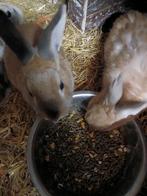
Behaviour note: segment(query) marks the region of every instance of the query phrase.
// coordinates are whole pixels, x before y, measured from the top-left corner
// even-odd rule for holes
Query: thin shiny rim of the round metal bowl
[[[95,96],[96,92],[94,92],[94,91],[76,91],[73,94],[73,98],[79,97],[80,95],[84,96],[86,94],[88,94],[89,97],[91,97],[91,96]],[[34,165],[34,161],[33,161],[33,157],[32,157],[32,146],[33,146],[32,141],[34,139],[34,135],[36,133],[37,127],[41,121],[42,121],[42,119],[39,117],[35,120],[32,128],[31,128],[30,134],[28,136],[27,149],[26,149],[27,167],[28,167],[28,172],[31,176],[31,180],[32,180],[34,186],[36,187],[36,189],[38,190],[39,194],[41,196],[52,196],[48,192],[47,188],[43,185],[43,183],[39,177],[39,174],[37,172],[37,169]],[[140,169],[140,172],[138,174],[136,181],[134,182],[131,189],[124,196],[135,196],[136,193],[139,192],[139,190],[143,184],[143,181],[145,179],[146,172],[147,172],[147,144],[146,144],[145,136],[144,136],[141,128],[139,127],[139,124],[135,120],[132,120],[131,122],[135,125],[136,129],[138,129],[138,135],[140,137],[142,149],[143,149],[143,161],[142,161],[142,167]]]

